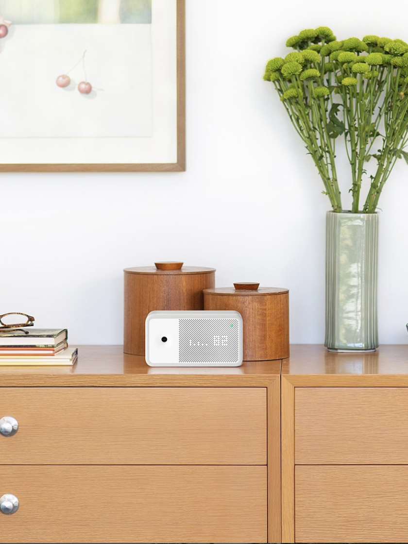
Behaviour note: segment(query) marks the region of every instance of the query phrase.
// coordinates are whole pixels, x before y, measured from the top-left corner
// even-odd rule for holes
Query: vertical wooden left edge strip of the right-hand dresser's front
[[[295,540],[294,387],[281,378],[282,542]]]

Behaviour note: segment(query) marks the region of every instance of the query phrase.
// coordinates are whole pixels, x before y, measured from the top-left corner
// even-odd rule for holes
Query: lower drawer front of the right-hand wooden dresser
[[[298,466],[296,542],[408,542],[408,467]]]

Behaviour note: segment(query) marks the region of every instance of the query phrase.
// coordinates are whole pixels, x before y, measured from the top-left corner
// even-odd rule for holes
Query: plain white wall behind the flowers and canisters
[[[323,342],[329,202],[264,64],[322,24],[408,39],[407,14],[405,0],[187,0],[187,172],[0,174],[0,313],[120,344],[122,269],[181,259],[217,268],[218,286],[288,287],[291,341]],[[400,162],[380,201],[381,343],[408,341],[407,203]]]

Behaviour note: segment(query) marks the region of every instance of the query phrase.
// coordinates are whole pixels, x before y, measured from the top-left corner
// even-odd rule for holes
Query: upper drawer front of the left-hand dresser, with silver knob
[[[265,388],[0,388],[2,464],[263,465]]]

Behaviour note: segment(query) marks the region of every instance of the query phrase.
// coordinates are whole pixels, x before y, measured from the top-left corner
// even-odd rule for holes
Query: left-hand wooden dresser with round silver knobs
[[[0,368],[0,541],[279,542],[280,367]]]

